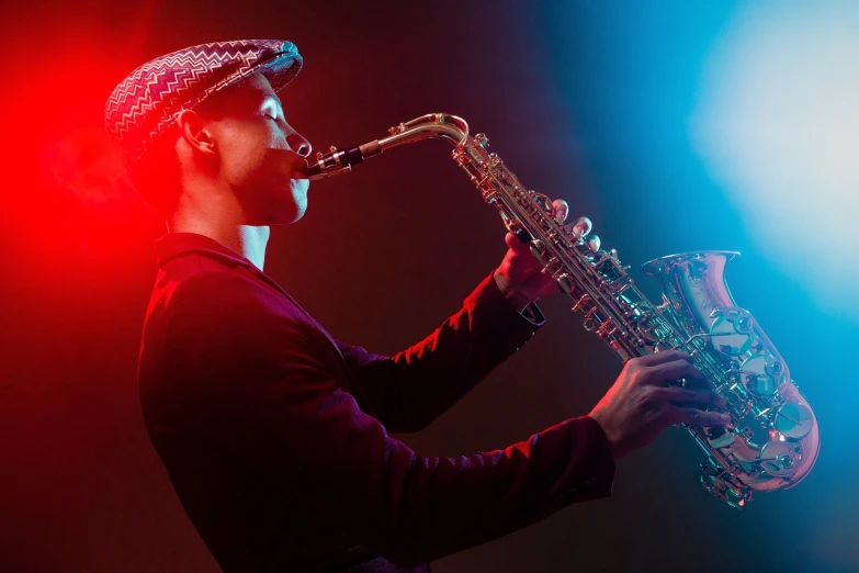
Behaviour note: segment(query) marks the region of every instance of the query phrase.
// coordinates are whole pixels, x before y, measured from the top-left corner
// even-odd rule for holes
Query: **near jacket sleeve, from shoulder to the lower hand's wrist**
[[[307,326],[273,312],[248,281],[191,279],[170,307],[168,355],[182,384],[170,402],[193,404],[181,431],[222,443],[350,543],[395,563],[438,559],[610,493],[613,458],[589,417],[505,449],[420,457],[340,389]]]

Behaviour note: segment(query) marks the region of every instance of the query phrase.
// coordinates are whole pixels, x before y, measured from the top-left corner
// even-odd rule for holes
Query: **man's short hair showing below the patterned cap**
[[[210,121],[224,117],[228,110],[227,97],[235,87],[213,93],[196,104],[194,112]],[[137,192],[165,217],[176,211],[182,194],[182,166],[176,153],[179,137],[179,125],[174,123],[128,170],[128,178]]]

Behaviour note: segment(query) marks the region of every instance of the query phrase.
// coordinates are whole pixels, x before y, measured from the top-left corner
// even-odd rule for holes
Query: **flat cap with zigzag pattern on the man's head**
[[[144,64],[122,80],[104,105],[104,124],[131,167],[176,124],[181,111],[256,72],[278,91],[298,74],[302,63],[295,44],[282,40],[215,42],[180,49]]]

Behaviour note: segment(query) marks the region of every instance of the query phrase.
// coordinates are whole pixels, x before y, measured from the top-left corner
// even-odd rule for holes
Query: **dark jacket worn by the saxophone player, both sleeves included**
[[[382,357],[331,338],[249,260],[193,234],[157,244],[139,391],[173,487],[226,572],[428,571],[430,560],[610,493],[599,425],[423,458],[426,427],[530,338],[484,280],[431,336]]]

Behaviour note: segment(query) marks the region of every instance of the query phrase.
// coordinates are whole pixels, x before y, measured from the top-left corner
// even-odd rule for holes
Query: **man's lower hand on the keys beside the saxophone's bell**
[[[589,414],[602,426],[614,459],[647,446],[671,424],[724,426],[731,422],[726,414],[699,409],[725,405],[714,392],[666,384],[679,379],[703,380],[687,352],[665,350],[626,362]]]

